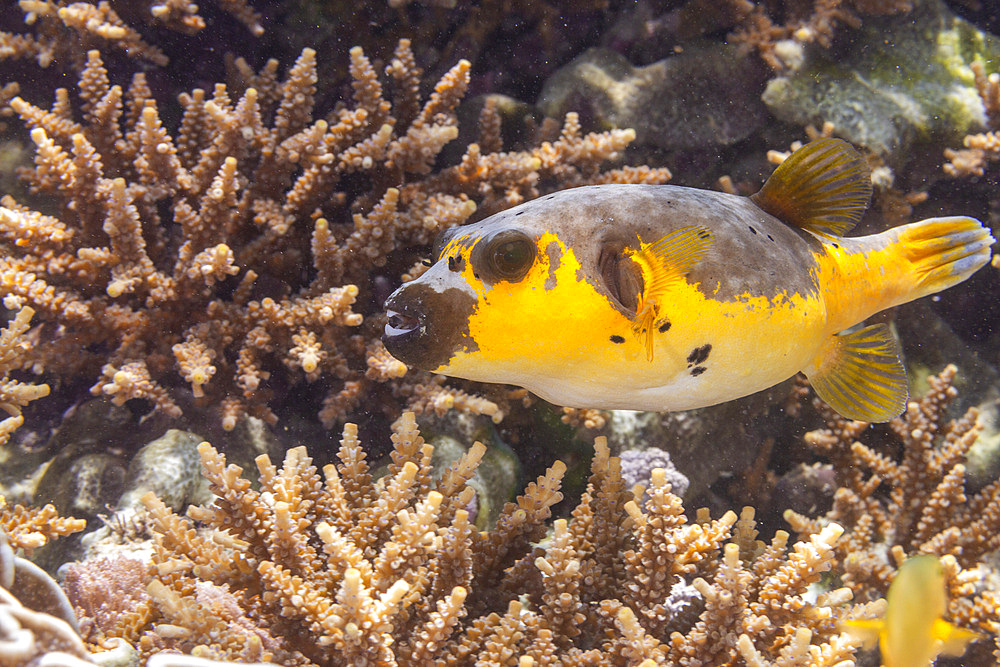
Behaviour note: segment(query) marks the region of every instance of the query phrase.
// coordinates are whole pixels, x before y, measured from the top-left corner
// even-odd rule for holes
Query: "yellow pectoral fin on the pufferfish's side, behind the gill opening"
[[[635,262],[642,275],[637,295],[632,331],[646,346],[646,358],[653,360],[653,331],[660,319],[660,304],[670,288],[705,257],[712,234],[700,225],[682,227],[653,243],[626,248],[625,257]]]

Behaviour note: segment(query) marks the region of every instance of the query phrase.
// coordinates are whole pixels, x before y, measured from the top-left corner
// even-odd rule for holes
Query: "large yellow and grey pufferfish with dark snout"
[[[864,159],[814,141],[751,197],[673,185],[563,190],[448,230],[386,301],[404,363],[579,408],[687,410],[805,372],[845,417],[906,406],[895,339],[870,315],[962,282],[993,237],[968,217],[844,238]]]

